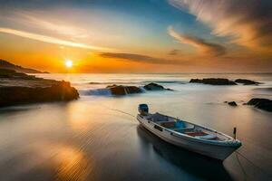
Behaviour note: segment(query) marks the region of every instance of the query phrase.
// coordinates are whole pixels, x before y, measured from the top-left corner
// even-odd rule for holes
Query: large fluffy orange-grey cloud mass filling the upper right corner
[[[268,0],[169,0],[188,10],[212,33],[249,48],[272,49],[272,2]]]

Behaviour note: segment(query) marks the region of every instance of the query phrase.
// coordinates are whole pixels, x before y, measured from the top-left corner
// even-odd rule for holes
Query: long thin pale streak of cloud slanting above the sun
[[[90,50],[95,50],[95,51],[111,51],[111,49],[104,48],[104,47],[93,46],[93,45],[89,45],[89,44],[85,44],[85,43],[74,43],[71,41],[66,41],[66,40],[55,38],[55,37],[46,36],[43,34],[28,33],[28,32],[5,28],[5,27],[0,27],[0,33],[13,34],[16,36],[20,36],[20,37],[24,37],[24,38],[28,38],[28,39],[35,40],[35,41],[44,42],[44,43],[53,43],[53,44],[59,44],[59,45],[63,45],[63,46],[90,49]]]

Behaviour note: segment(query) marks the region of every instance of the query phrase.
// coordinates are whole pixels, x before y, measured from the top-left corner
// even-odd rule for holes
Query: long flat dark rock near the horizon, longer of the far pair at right
[[[234,81],[229,81],[228,79],[221,78],[208,78],[208,79],[191,79],[189,83],[203,83],[209,85],[237,85]]]

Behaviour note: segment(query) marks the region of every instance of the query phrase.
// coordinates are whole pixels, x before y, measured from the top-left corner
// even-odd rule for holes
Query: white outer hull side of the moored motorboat
[[[140,116],[137,117],[141,125],[150,130],[151,133],[156,135],[157,137],[163,139],[164,141],[178,146],[180,148],[188,149],[189,151],[193,151],[195,153],[199,153],[201,155],[212,157],[218,160],[224,160],[229,155],[231,155],[237,148],[240,146],[222,146],[216,144],[207,144],[203,143],[194,138],[186,138],[180,137],[180,135],[173,134],[167,129],[156,129],[155,124],[152,121],[148,121],[147,119],[142,119]]]

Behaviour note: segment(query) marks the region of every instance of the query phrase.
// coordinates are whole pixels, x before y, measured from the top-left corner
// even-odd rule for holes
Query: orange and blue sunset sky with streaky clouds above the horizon
[[[270,0],[0,0],[0,6],[0,59],[40,71],[272,71]]]

